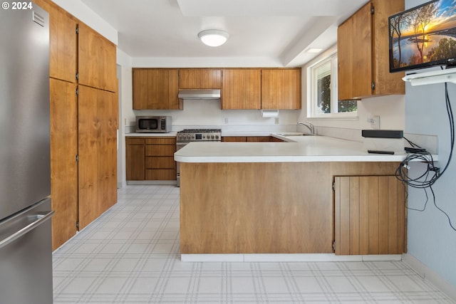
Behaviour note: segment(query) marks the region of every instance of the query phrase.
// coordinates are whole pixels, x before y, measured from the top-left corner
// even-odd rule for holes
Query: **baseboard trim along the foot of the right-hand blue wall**
[[[456,287],[445,281],[442,276],[435,273],[435,271],[432,271],[432,269],[427,267],[420,260],[418,260],[418,258],[415,258],[415,256],[412,256],[410,253],[404,253],[402,255],[402,261],[418,273],[418,276],[430,281],[430,283],[439,288],[442,293],[445,293],[456,302]]]

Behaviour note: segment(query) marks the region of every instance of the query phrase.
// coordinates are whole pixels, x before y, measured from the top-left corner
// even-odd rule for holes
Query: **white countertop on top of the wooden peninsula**
[[[362,142],[334,137],[270,135],[286,142],[191,142],[175,152],[175,160],[177,162],[401,162],[406,155],[405,152],[370,154],[363,150]],[[224,134],[224,136],[227,135]]]

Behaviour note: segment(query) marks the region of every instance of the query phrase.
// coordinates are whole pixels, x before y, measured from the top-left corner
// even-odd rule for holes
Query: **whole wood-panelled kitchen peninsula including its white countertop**
[[[180,162],[180,251],[400,254],[406,249],[404,154],[361,142],[195,142]]]

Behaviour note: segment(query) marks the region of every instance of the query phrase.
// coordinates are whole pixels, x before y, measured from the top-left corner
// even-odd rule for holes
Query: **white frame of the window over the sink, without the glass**
[[[317,112],[317,81],[316,70],[324,64],[331,62],[331,113]],[[307,117],[308,118],[333,118],[333,119],[357,119],[358,110],[356,112],[337,112],[338,97],[337,97],[337,51],[323,54],[309,64],[307,70]],[[357,107],[358,108],[358,107]]]

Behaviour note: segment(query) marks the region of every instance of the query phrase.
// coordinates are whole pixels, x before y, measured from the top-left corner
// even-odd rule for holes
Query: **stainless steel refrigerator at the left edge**
[[[48,14],[0,9],[0,303],[52,303]],[[25,4],[25,2],[24,2]]]

